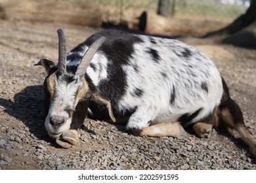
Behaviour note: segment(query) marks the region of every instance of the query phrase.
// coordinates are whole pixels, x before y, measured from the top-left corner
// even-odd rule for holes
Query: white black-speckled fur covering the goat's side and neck
[[[136,112],[129,119],[127,128],[142,129],[149,125],[148,121],[150,120],[153,124],[176,122],[182,114],[192,114],[202,108],[200,114],[190,122],[194,123],[210,114],[213,108],[219,105],[223,93],[221,76],[217,67],[207,56],[183,42],[154,38],[156,42],[161,41],[162,45],[154,47],[160,56],[159,63],[156,63],[150,54],[145,54],[147,48],[152,48],[150,37],[140,36],[140,38],[143,39],[143,44],[135,44],[135,53],[129,59],[130,64],[123,66],[128,86],[125,96],[118,103],[119,110],[137,107]],[[184,48],[196,54],[200,59],[190,57],[187,60],[173,52],[173,50],[182,52]],[[107,62],[106,59],[96,56],[92,63],[96,65],[100,61]],[[133,67],[135,64],[139,73]],[[102,71],[106,71],[106,64],[102,67]],[[100,80],[107,77],[107,75],[100,77],[102,73],[93,72],[90,68],[87,73],[96,86]],[[165,73],[167,77],[164,78],[161,73]],[[192,77],[189,73],[193,73],[196,77]],[[200,86],[205,81],[208,85],[208,92],[202,90]],[[170,91],[174,86],[175,101],[173,105],[170,105]],[[188,86],[189,88],[187,88]],[[141,97],[132,95],[135,88],[143,90],[144,93]]]

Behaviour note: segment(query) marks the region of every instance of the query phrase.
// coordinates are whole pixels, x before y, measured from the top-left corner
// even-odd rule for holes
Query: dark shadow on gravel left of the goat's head
[[[43,86],[28,86],[14,95],[14,101],[0,99],[5,112],[23,122],[37,139],[51,142],[44,126]]]

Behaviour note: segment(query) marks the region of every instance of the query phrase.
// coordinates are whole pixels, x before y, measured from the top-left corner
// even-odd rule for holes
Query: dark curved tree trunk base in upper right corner
[[[232,24],[220,29],[219,31],[213,31],[207,33],[204,37],[211,37],[215,35],[233,34],[236,33],[244,27],[251,25],[256,21],[256,0],[251,0],[251,5],[242,16],[238,17]]]

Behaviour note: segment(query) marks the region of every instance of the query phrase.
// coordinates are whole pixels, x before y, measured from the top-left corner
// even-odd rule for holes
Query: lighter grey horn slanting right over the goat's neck
[[[98,48],[100,48],[101,44],[106,41],[106,37],[100,37],[100,39],[96,40],[91,44],[91,46],[88,48],[88,50],[85,52],[85,56],[83,56],[83,59],[79,66],[77,67],[77,71],[75,72],[75,75],[82,76],[85,75],[87,67],[89,67],[91,60],[93,59],[93,56],[97,52]]]

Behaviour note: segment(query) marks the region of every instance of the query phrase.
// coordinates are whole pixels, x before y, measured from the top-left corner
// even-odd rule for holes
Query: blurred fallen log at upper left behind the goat
[[[12,4],[10,4],[12,2]],[[100,27],[102,14],[99,7],[66,1],[9,1],[4,6],[7,20],[63,22]]]

